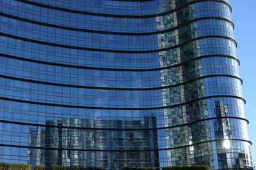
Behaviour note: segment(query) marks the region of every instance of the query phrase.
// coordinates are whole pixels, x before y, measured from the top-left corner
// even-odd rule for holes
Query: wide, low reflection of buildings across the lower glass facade
[[[44,127],[29,128],[29,146],[52,148],[29,149],[29,164],[45,164],[48,167],[54,164],[81,167],[100,165],[107,168],[109,162],[114,161],[115,164],[111,168],[119,168],[124,166],[118,164],[120,159],[129,159],[129,165],[132,166],[140,166],[138,161],[142,159],[144,166],[159,166],[152,161],[158,162],[159,157],[154,157],[151,152],[137,153],[141,148],[157,149],[157,131],[149,130],[156,128],[156,117],[145,117],[143,124],[138,120],[105,123],[106,126],[98,126],[95,120],[63,118],[61,121],[55,118],[47,121]],[[113,130],[109,131],[109,128]],[[102,152],[95,152],[94,148]],[[127,152],[108,154],[106,150]]]

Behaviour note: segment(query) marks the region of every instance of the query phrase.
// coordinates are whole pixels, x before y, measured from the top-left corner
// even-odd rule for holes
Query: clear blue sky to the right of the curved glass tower
[[[241,61],[241,77],[246,99],[246,116],[250,121],[249,136],[252,145],[253,164],[256,165],[256,1],[230,0],[232,20],[235,24],[237,52]]]

